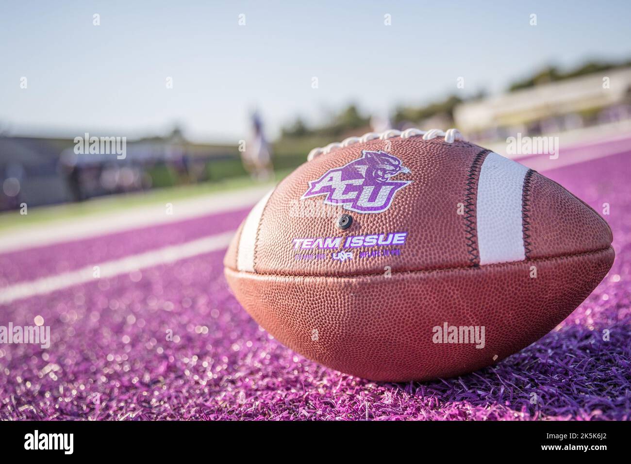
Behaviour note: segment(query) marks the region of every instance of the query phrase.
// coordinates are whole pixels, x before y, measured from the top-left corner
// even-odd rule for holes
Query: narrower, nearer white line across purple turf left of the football
[[[100,278],[110,278],[124,273],[151,268],[157,265],[174,263],[180,259],[191,258],[198,254],[209,253],[225,248],[230,243],[235,234],[234,230],[223,234],[209,235],[201,239],[179,245],[167,246],[146,253],[134,254],[121,259],[105,261],[105,263],[94,263],[76,271],[64,272],[62,274],[42,277],[30,282],[21,282],[0,289],[0,304],[9,304],[15,300],[42,295],[55,290],[66,289],[73,285],[85,282],[93,282],[97,278],[93,277],[93,267],[100,267]]]

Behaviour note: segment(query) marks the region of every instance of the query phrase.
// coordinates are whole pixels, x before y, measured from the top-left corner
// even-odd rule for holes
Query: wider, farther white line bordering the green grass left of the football
[[[178,198],[167,214],[166,203],[134,206],[103,215],[68,218],[63,222],[34,224],[0,234],[0,253],[97,237],[124,230],[178,222],[203,215],[238,210],[254,205],[269,191],[269,185],[193,198]],[[36,210],[29,212],[36,214]]]

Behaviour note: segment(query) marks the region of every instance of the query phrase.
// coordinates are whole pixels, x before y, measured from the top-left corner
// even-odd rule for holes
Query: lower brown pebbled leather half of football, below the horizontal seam
[[[613,255],[608,248],[391,278],[225,274],[239,302],[287,347],[362,378],[409,381],[471,372],[535,342],[591,293]],[[432,328],[445,322],[485,326],[485,347],[433,343]]]

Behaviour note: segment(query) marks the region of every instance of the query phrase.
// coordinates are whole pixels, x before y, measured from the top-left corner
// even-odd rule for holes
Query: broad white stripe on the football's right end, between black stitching
[[[478,181],[478,250],[480,265],[526,258],[522,232],[522,193],[528,168],[489,153]]]

